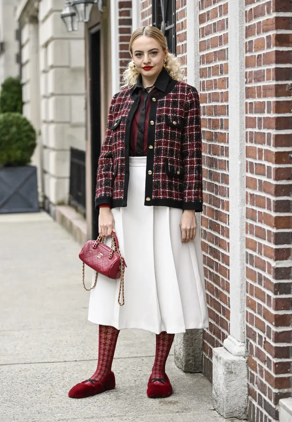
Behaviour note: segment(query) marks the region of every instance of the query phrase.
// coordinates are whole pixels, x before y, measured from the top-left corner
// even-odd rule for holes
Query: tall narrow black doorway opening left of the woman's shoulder
[[[90,110],[91,110],[91,173],[92,173],[92,238],[98,237],[98,216],[95,210],[95,188],[100,156],[100,30],[89,32]]]

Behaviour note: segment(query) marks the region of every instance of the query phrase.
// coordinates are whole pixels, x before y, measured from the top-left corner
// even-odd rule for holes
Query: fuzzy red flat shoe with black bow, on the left
[[[88,381],[90,384],[86,384]],[[71,390],[68,392],[68,396],[73,398],[84,398],[103,393],[107,390],[113,390],[115,387],[115,376],[114,373],[111,372],[100,381],[89,378],[85,381],[79,382],[71,388]]]

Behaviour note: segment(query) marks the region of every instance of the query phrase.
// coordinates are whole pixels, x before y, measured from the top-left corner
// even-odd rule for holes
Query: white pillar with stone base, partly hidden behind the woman
[[[200,91],[199,3],[187,0],[187,83]],[[201,235],[197,214],[197,235]],[[202,372],[203,330],[187,330],[174,338],[174,361],[184,372]]]

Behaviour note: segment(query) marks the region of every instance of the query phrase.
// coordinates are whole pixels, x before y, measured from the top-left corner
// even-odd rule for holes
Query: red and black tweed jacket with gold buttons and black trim
[[[202,138],[199,95],[162,69],[151,97],[145,206],[203,210]],[[139,104],[136,86],[114,95],[97,168],[95,206],[127,206],[129,143]]]

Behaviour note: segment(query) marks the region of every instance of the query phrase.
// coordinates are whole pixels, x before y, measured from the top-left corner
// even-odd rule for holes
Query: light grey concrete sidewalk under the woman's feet
[[[115,390],[68,398],[97,361],[79,251],[47,214],[0,216],[0,421],[224,421],[212,409],[211,384],[176,368],[173,354],[173,395],[147,398],[155,335],[142,330],[120,333]]]

